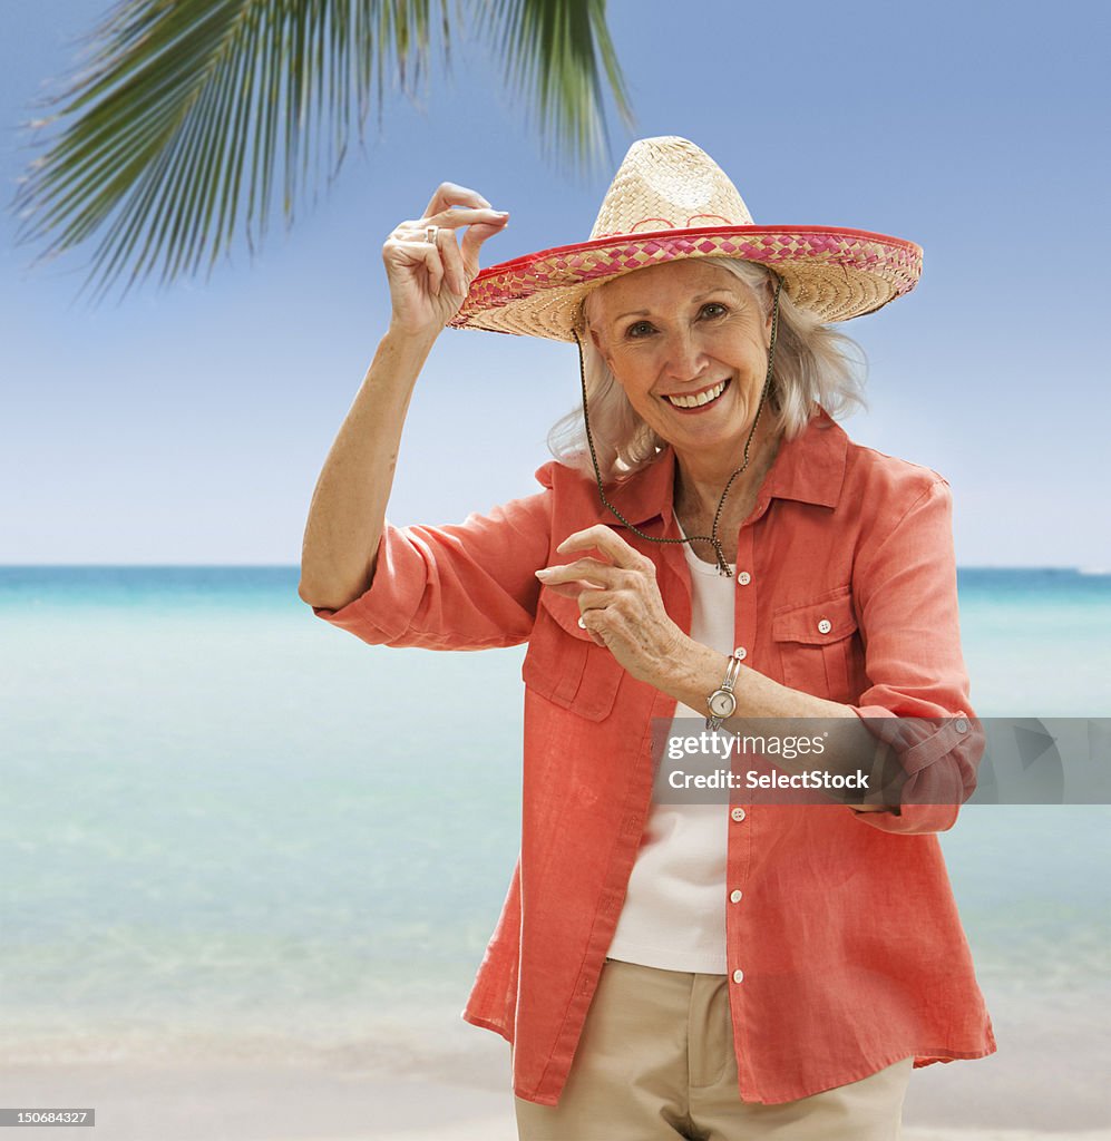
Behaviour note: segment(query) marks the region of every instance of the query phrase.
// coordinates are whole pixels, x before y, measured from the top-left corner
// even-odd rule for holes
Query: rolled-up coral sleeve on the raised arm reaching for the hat
[[[551,534],[551,492],[440,527],[386,523],[370,588],[325,622],[373,646],[477,650],[527,641]]]

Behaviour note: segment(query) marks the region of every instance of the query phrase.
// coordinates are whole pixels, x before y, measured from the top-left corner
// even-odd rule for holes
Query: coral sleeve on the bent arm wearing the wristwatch
[[[935,479],[861,553],[853,593],[868,689],[853,712],[898,756],[897,810],[858,812],[885,832],[944,832],[975,791],[983,733],[960,653],[952,495]]]

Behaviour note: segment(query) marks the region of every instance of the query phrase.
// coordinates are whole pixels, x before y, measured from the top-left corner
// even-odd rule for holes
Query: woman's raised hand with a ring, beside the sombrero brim
[[[439,333],[462,308],[478,276],[482,242],[504,229],[508,220],[508,213],[492,209],[477,191],[440,184],[424,216],[403,221],[382,246],[392,302],[390,327],[409,334]],[[435,244],[425,241],[429,226],[438,227]],[[460,249],[455,230],[464,226]]]

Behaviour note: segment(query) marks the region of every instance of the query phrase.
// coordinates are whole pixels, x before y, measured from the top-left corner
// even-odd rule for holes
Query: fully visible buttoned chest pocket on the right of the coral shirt
[[[848,586],[811,602],[779,607],[771,637],[779,653],[785,686],[833,702],[853,702],[858,694],[860,634]]]

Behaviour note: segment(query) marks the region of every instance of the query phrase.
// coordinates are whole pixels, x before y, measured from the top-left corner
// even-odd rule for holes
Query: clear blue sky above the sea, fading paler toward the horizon
[[[103,0],[6,0],[6,202],[18,124]],[[0,221],[0,563],[295,564],[321,464],[384,332],[382,242],[441,180],[511,212],[484,265],[585,238],[633,138],[682,135],[757,222],[925,249],[914,293],[844,330],[870,361],[860,443],[952,484],[962,565],[1111,566],[1105,7],[615,2],[636,124],[605,170],[545,161],[490,55],[455,46],[422,107],[390,96],[331,192],[253,261],[75,301],[87,253],[27,270]],[[117,296],[117,294],[116,294]],[[446,331],[389,517],[447,523],[537,488],[577,403],[573,346]],[[510,427],[511,430],[506,431]]]

